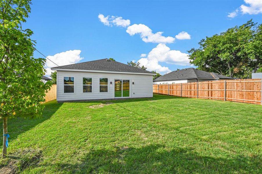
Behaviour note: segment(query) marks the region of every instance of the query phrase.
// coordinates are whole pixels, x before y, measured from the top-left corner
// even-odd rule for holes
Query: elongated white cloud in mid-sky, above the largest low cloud
[[[126,32],[133,36],[139,34],[144,42],[153,43],[173,43],[175,38],[162,36],[163,32],[153,33],[152,30],[144,24],[133,24],[126,29]]]

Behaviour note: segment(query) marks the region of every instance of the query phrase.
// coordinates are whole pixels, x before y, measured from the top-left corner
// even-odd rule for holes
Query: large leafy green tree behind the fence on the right
[[[198,69],[229,77],[247,78],[262,66],[261,24],[252,20],[220,35],[202,39],[189,50],[190,63]]]

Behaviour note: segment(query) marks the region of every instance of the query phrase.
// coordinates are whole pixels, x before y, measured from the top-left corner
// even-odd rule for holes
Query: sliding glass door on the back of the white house
[[[130,96],[130,80],[115,79],[115,97]]]

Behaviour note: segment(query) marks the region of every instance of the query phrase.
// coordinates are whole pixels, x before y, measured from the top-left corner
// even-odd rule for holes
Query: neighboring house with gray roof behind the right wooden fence
[[[211,81],[222,79],[234,79],[217,73],[209,73],[195,68],[186,68],[182,70],[172,71],[166,75],[162,75],[153,81],[153,84],[176,84],[189,83],[197,81]]]

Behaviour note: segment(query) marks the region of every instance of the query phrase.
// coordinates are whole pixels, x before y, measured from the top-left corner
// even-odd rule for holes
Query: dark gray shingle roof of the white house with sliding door
[[[78,64],[64,65],[53,67],[56,69],[70,69],[70,70],[95,70],[95,71],[112,71],[112,72],[124,72],[124,73],[148,73],[154,74],[150,71],[135,68],[117,61],[109,59],[100,59],[94,61],[87,61]]]

